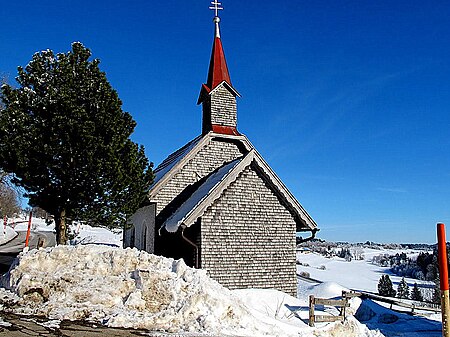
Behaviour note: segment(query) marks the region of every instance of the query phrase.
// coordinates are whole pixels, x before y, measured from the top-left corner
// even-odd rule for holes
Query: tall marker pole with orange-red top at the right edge
[[[447,242],[445,240],[445,225],[443,223],[437,224],[437,234],[439,279],[441,283],[442,336],[450,337],[450,330],[448,326],[450,302],[448,287]]]

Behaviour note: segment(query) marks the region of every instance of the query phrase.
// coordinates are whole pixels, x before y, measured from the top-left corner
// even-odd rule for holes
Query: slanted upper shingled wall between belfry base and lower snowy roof
[[[211,140],[159,191],[155,200],[158,214],[189,184],[195,183],[226,162],[242,156],[239,148],[231,142]]]

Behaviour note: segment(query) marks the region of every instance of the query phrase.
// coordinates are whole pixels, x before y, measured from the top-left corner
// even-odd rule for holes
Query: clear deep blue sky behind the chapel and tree
[[[223,0],[238,129],[340,241],[435,242],[450,226],[448,1]],[[201,130],[209,1],[5,1],[0,74],[81,41],[155,164]]]

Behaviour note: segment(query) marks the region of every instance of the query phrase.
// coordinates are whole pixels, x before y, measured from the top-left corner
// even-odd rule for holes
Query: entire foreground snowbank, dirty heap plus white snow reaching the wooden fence
[[[218,336],[380,336],[353,318],[310,328],[300,317],[306,300],[275,290],[232,292],[181,260],[136,249],[31,250],[3,284],[9,291],[0,288],[0,310],[52,320]]]

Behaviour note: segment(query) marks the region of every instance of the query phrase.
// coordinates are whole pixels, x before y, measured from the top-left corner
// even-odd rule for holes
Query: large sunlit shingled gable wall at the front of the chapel
[[[201,220],[201,267],[230,289],[297,295],[295,221],[252,166]]]

